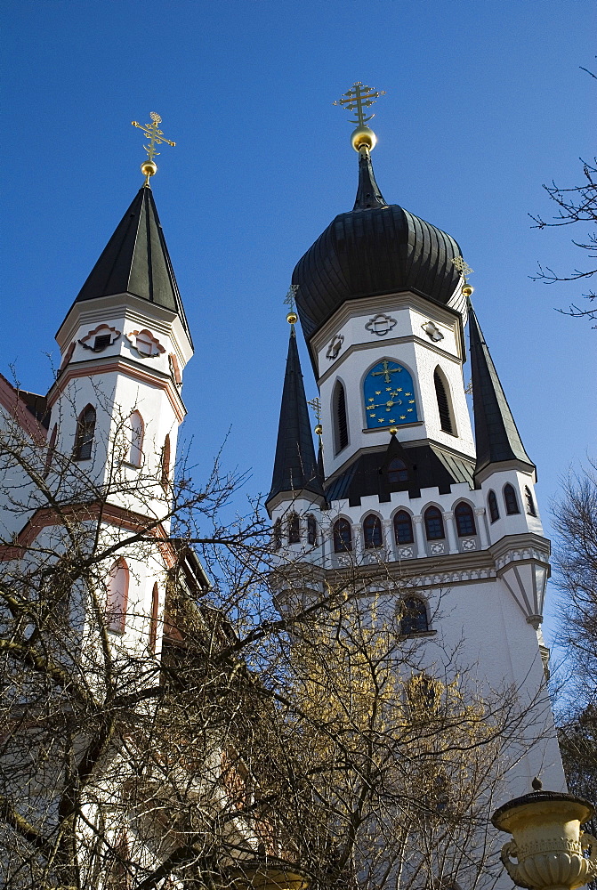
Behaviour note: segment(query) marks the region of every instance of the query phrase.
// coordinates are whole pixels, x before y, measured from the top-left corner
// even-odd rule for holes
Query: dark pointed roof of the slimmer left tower
[[[133,198],[75,302],[113,294],[133,294],[176,312],[189,333],[149,187],[143,186]]]

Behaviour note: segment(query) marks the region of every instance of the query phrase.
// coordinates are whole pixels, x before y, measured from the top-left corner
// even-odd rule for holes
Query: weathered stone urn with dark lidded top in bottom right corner
[[[500,806],[491,817],[512,840],[502,847],[502,862],[514,884],[528,890],[575,890],[597,878],[597,840],[581,832],[592,804],[582,797],[534,791]],[[585,856],[588,853],[588,857]]]

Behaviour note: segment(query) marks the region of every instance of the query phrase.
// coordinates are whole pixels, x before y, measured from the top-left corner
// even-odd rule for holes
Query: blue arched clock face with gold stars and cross
[[[413,424],[418,420],[413,378],[397,361],[383,359],[363,384],[367,429]]]

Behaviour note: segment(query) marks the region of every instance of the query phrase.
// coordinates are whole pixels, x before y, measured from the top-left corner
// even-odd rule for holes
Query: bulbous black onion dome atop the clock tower
[[[346,300],[412,290],[448,303],[460,279],[460,247],[397,204],[386,205],[370,158],[359,159],[351,213],[339,214],[296,264],[296,306],[307,340]]]

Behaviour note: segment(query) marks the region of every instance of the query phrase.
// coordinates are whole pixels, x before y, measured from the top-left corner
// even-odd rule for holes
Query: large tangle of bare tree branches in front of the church
[[[17,423],[0,438],[22,519],[0,542],[3,886],[487,886],[487,813],[531,732],[517,691],[405,639],[390,573],[372,594],[359,566],[318,588],[288,565],[275,603],[238,475],[182,465],[158,496],[121,432],[101,484]],[[159,615],[115,614],[121,557],[151,566]]]

